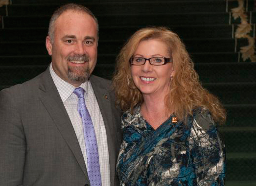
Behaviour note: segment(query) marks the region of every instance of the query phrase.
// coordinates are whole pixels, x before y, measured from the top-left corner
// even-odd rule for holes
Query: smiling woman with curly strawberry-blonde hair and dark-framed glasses
[[[216,123],[225,122],[225,110],[200,84],[177,34],[165,27],[135,32],[117,57],[113,86],[125,111],[121,185],[224,185]]]

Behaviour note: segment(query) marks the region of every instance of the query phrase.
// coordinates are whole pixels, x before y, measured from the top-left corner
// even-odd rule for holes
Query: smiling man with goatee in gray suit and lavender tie
[[[120,112],[110,81],[91,75],[97,44],[98,24],[89,9],[66,4],[54,12],[47,70],[0,92],[0,186],[119,184]],[[87,122],[93,134],[86,136]]]

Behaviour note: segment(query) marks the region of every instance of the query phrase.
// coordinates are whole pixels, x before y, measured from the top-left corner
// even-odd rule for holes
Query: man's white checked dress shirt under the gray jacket
[[[83,124],[81,116],[77,111],[78,97],[73,93],[76,87],[61,79],[52,69],[52,64],[50,64],[50,74],[60,94],[62,102],[64,103],[66,111],[70,117],[87,167],[87,155],[83,133]],[[101,183],[102,186],[110,186],[110,167],[107,134],[104,121],[99,110],[99,105],[90,81],[82,83],[79,87],[82,87],[85,90],[85,104],[93,121],[93,127],[95,130],[98,145]]]

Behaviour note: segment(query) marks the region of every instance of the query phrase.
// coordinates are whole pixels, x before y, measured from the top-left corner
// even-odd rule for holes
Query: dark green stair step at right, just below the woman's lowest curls
[[[256,127],[219,127],[227,153],[256,153]]]

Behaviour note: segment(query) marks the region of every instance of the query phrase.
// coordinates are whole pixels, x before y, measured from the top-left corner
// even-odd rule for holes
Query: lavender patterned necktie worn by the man
[[[78,96],[78,113],[82,117],[83,122],[88,165],[87,171],[89,175],[90,184],[91,186],[101,186],[98,147],[93,128],[92,118],[85,105],[85,90],[79,87],[76,88],[73,93]]]

